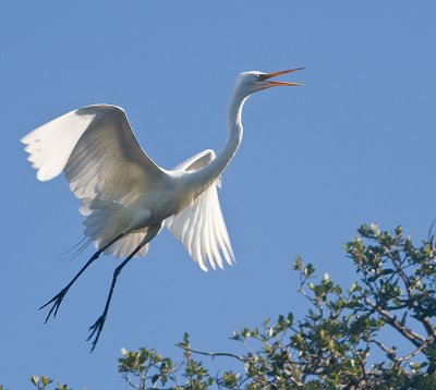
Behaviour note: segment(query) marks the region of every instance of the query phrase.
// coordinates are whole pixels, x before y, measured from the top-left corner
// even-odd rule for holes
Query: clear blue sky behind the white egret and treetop
[[[363,222],[404,226],[416,241],[436,218],[434,1],[16,1],[0,5],[2,271],[0,382],[46,374],[74,388],[118,389],[120,349],[180,356],[238,351],[233,329],[294,312],[298,254],[349,284],[341,245]],[[245,105],[244,138],[223,174],[221,207],[238,259],[203,272],[161,233],[123,270],[96,351],[117,260],[77,281],[58,317],[37,308],[90,256],[64,178],[35,179],[19,139],[89,103],[122,106],[144,149],[170,168],[226,142],[237,75],[306,66]],[[222,369],[230,367],[220,361]],[[232,366],[233,368],[234,365]]]

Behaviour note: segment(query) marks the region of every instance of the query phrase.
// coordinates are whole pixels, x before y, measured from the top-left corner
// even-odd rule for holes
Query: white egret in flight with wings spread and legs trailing
[[[235,257],[222,217],[217,187],[243,135],[242,109],[254,93],[277,86],[301,86],[272,80],[303,68],[241,73],[227,113],[228,138],[220,154],[207,149],[172,170],[142,149],[125,111],[113,105],[92,105],[70,111],[25,135],[27,160],[39,181],[62,172],[80,199],[84,234],[96,252],[75,277],[50,301],[46,322],[55,318],[74,282],[101,254],[123,258],[114,269],[102,314],[89,327],[90,352],[100,338],[112,293],[123,267],[146,255],[164,227],[180,241],[204,271],[223,269]]]

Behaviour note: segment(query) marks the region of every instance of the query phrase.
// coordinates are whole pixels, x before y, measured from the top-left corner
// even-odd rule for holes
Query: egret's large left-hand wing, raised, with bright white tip
[[[97,247],[122,231],[109,223],[117,210],[167,175],[141,148],[124,110],[116,106],[71,111],[34,130],[22,142],[39,180],[65,173],[71,191],[82,200],[85,234]],[[144,234],[131,233],[107,252],[125,256]]]

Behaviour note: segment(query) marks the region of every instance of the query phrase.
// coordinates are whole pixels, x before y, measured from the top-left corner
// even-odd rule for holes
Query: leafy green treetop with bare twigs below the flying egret
[[[344,245],[359,280],[348,289],[296,258],[299,291],[308,302],[304,318],[292,313],[259,328],[234,331],[246,352],[204,352],[189,334],[177,364],[155,350],[122,350],[119,371],[136,389],[435,389],[436,248],[432,233],[419,246],[401,227],[362,226]],[[383,334],[399,337],[389,345]],[[211,375],[199,356],[241,363],[240,373]],[[225,363],[225,362],[223,362]]]

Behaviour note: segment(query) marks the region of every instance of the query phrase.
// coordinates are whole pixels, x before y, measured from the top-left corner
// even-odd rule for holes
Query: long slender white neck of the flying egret
[[[213,183],[229,164],[235,155],[243,134],[242,108],[249,96],[241,95],[238,89],[233,93],[227,113],[228,138],[225,148],[206,167],[190,174],[190,179],[198,185],[198,190],[206,188]],[[201,190],[201,191],[202,191]]]

